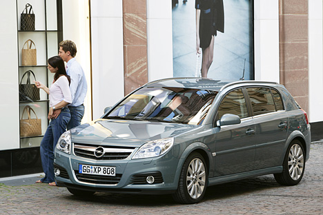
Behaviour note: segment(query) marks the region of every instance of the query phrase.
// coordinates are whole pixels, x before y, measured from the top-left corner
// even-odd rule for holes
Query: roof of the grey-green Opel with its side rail
[[[225,88],[237,85],[278,85],[278,83],[270,81],[220,81],[207,78],[180,77],[151,81],[144,85],[144,87],[192,88],[200,90],[215,90],[219,92]]]

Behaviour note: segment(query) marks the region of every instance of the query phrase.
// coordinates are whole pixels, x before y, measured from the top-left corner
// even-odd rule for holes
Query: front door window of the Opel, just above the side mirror
[[[217,110],[219,119],[224,114],[235,114],[240,118],[248,116],[248,110],[246,107],[246,101],[244,100],[244,94],[242,90],[233,90],[224,96],[219,109]]]

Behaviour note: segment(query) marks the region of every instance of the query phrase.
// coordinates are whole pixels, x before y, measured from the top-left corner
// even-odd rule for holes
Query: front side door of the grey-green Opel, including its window
[[[224,96],[217,110],[217,119],[224,114],[239,116],[241,123],[219,128],[215,143],[214,176],[251,171],[255,159],[255,124],[248,114],[242,89],[233,90]]]

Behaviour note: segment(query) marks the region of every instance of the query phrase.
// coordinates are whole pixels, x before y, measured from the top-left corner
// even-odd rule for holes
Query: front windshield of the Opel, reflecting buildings
[[[188,88],[141,88],[119,103],[104,119],[201,124],[217,92]]]

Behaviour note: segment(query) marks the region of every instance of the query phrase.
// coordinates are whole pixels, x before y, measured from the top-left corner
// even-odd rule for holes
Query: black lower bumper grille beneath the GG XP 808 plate
[[[100,185],[116,185],[119,183],[122,174],[117,174],[116,176],[97,176],[92,174],[79,174],[78,170],[75,170],[75,176],[77,180]]]

